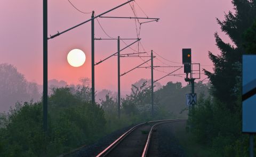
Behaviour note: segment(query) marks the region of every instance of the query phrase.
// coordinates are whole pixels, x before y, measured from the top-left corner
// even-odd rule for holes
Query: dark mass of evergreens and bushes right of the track
[[[220,55],[209,57],[214,72],[205,70],[212,83],[213,97],[199,98],[189,115],[191,133],[198,143],[210,146],[222,156],[248,156],[248,137],[242,134],[242,54],[256,54],[256,1],[233,0],[235,13],[217,19],[234,46],[215,33]],[[254,24],[253,24],[254,22]]]

